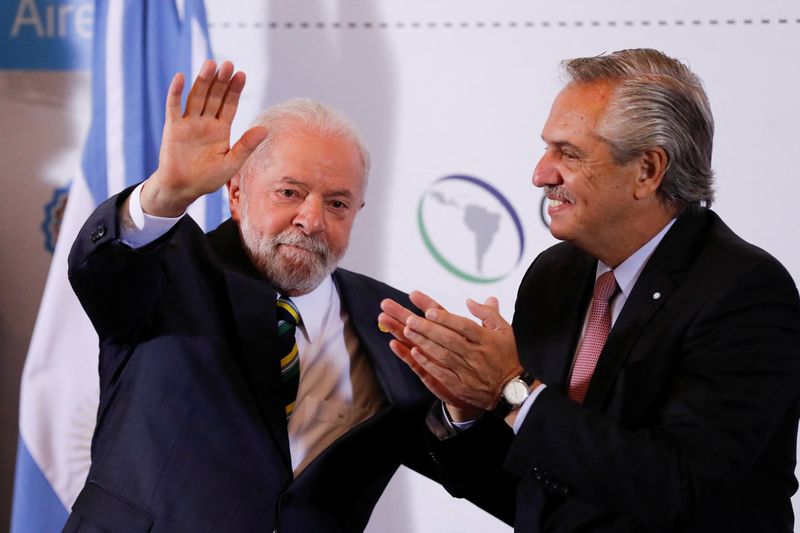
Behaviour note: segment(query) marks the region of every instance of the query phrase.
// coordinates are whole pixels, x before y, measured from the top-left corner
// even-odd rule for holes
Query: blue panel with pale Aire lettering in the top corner
[[[92,0],[12,0],[0,10],[0,69],[85,70]]]

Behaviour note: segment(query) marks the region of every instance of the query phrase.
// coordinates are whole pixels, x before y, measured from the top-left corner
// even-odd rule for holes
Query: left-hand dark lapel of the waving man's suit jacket
[[[275,289],[255,270],[241,247],[238,228],[228,220],[209,234],[223,262],[223,276],[238,338],[245,376],[261,417],[291,469],[286,417],[280,401]]]

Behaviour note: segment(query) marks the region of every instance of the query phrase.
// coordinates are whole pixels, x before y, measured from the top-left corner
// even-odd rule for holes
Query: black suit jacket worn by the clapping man
[[[487,419],[433,442],[450,488],[480,490],[487,472],[518,485],[524,532],[791,532],[792,278],[712,211],[685,212],[642,271],[581,406],[565,391],[596,264],[561,243],[525,274],[514,333],[522,364],[547,388],[516,437]],[[456,475],[475,454],[483,470]]]

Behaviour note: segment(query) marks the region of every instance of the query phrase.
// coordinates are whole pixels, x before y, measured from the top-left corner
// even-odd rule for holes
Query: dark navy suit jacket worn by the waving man
[[[189,218],[137,250],[112,198],[70,254],[70,281],[100,336],[92,466],[66,531],[351,532],[400,464],[431,465],[432,397],[388,348],[379,303],[406,296],[337,270],[343,308],[387,399],[293,479],[279,398],[275,290],[225,222]]]

